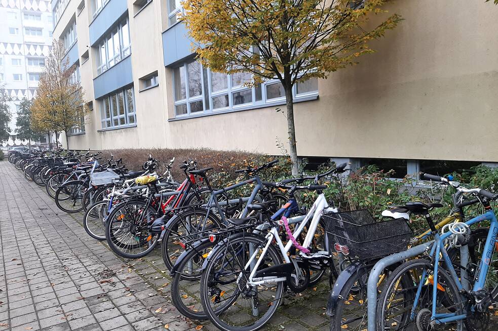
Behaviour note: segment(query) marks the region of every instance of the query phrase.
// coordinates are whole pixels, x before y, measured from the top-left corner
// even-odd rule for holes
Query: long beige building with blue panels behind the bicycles
[[[196,148],[279,155],[281,86],[211,72],[195,60],[179,0],[52,0],[54,37],[92,112],[71,148]],[[465,10],[464,10],[465,8]],[[498,7],[398,1],[404,21],[375,54],[294,90],[297,151],[375,163],[397,177],[498,163]],[[74,33],[75,32],[75,33]]]

